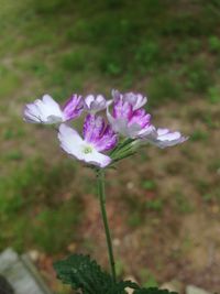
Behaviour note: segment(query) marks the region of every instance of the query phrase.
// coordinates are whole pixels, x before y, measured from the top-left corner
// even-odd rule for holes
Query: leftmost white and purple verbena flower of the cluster
[[[81,96],[74,94],[63,108],[50,96],[44,95],[42,99],[36,99],[33,104],[28,104],[24,108],[24,120],[31,123],[61,123],[78,118],[84,110]]]

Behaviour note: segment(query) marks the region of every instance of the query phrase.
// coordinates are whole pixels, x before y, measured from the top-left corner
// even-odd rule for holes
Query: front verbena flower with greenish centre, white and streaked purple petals
[[[106,167],[111,157],[101,152],[113,149],[117,144],[117,134],[103,118],[88,115],[84,122],[84,139],[76,130],[62,123],[58,139],[62,149],[69,155],[89,164]]]

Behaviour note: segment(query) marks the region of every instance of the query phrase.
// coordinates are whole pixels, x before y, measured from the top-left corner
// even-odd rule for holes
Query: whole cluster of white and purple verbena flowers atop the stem
[[[50,95],[24,107],[24,120],[31,123],[59,124],[61,148],[87,164],[106,167],[133,154],[138,146],[151,143],[158,148],[172,146],[187,140],[178,131],[156,129],[144,106],[147,98],[141,94],[121,94],[112,90],[111,99],[102,95],[74,94],[61,107]],[[106,111],[106,119],[97,113]],[[84,112],[82,137],[68,121]]]

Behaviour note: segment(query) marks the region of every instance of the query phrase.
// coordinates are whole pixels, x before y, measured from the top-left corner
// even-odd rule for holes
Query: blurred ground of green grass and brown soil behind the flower
[[[143,285],[220,285],[220,1],[0,0],[0,250],[52,262],[86,252],[108,266],[94,173],[53,130],[22,121],[48,92],[112,88],[148,97],[153,123],[190,135],[146,146],[107,174],[117,271]]]

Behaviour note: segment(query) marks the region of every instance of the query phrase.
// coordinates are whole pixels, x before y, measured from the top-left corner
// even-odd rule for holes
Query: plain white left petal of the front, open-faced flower
[[[84,140],[76,130],[62,123],[59,126],[58,140],[61,142],[61,148],[65,152],[77,157],[78,160],[84,160]]]

